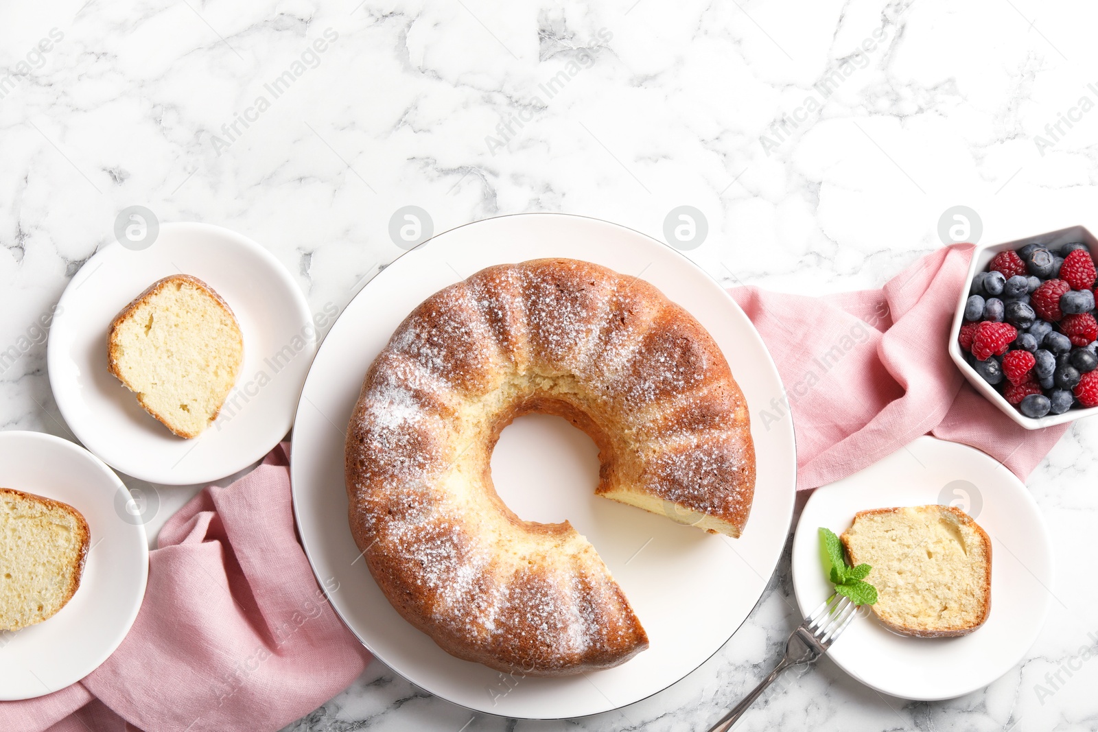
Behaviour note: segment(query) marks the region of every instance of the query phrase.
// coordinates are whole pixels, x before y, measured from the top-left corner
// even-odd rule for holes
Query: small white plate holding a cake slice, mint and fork
[[[991,539],[991,610],[960,638],[908,638],[866,612],[828,651],[840,668],[882,694],[952,699],[1015,667],[1041,632],[1052,598],[1052,545],[1041,511],[1013,473],[966,444],[920,437],[860,473],[818,488],[793,540],[793,587],[805,615],[831,594],[819,528],[838,534],[871,508],[951,504]]]

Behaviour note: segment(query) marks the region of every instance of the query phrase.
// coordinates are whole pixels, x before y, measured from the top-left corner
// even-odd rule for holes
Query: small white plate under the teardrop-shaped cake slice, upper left
[[[244,364],[217,419],[176,437],[107,370],[114,316],[148,285],[192,274],[220,294],[244,335]],[[316,331],[301,290],[258,244],[209,224],[163,224],[147,249],[112,243],[76,273],[49,328],[49,385],[77,438],[114,469],[150,483],[215,481],[261,459],[293,424]]]

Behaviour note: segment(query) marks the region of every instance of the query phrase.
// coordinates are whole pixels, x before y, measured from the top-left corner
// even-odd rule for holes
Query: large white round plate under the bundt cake
[[[302,543],[317,578],[338,583],[332,603],[359,640],[413,684],[470,709],[527,719],[608,711],[694,671],[736,632],[777,564],[792,519],[796,455],[788,419],[752,435],[758,487],[743,536],[707,534],[594,495],[594,444],[563,420],[530,415],[504,430],[493,455],[501,497],[519,516],[569,519],[621,585],[651,645],[628,663],[512,685],[459,661],[405,622],[378,589],[347,527],[344,441],[366,370],[424,299],[504,262],[571,257],[642,275],[714,336],[753,409],[781,398],[777,371],[736,303],[673,249],[637,232],[579,216],[524,214],[462,226],[402,256],[344,311],[305,381],[294,425],[291,477]],[[752,417],[757,417],[752,414]],[[562,431],[563,430],[563,431]],[[548,443],[548,444],[547,444]]]

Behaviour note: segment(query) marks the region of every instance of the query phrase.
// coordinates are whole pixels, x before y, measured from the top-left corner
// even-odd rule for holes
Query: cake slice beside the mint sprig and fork
[[[873,567],[873,611],[904,635],[964,635],[991,605],[991,541],[953,506],[860,511],[842,534],[853,564]]]

